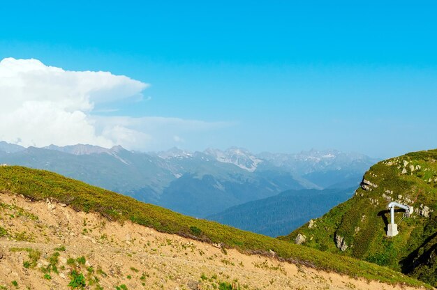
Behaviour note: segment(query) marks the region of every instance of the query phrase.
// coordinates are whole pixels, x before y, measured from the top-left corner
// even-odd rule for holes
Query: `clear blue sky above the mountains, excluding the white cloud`
[[[433,1],[235,2],[10,1],[0,59],[150,84],[142,101],[99,103],[92,116],[213,124],[175,125],[177,138],[145,125],[159,139],[138,145],[146,151],[336,148],[385,158],[437,147]]]

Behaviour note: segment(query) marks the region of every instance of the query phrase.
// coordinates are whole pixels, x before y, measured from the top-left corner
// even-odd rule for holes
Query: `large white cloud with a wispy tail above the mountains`
[[[163,117],[96,116],[94,107],[117,100],[150,100],[148,84],[108,72],[68,71],[36,59],[0,61],[0,140],[22,146],[122,145],[135,150],[165,146],[175,136],[220,128]],[[117,109],[111,109],[117,110]]]

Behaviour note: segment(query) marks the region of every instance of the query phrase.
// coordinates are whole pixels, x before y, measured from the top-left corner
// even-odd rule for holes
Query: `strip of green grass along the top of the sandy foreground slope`
[[[121,222],[131,220],[158,231],[223,243],[242,252],[259,253],[273,250],[281,259],[353,277],[388,283],[422,284],[389,268],[329,252],[320,252],[310,247],[292,245],[287,241],[241,231],[216,222],[187,217],[49,171],[25,167],[0,167],[0,192],[22,194],[34,200],[51,198],[68,204],[77,211],[97,212]]]

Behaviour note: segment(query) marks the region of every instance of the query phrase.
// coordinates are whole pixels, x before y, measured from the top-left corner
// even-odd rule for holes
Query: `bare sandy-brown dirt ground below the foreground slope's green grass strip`
[[[223,251],[50,201],[0,194],[0,203],[7,231],[0,237],[0,289],[69,289],[72,270],[86,289],[206,290],[221,282],[241,289],[413,289]]]

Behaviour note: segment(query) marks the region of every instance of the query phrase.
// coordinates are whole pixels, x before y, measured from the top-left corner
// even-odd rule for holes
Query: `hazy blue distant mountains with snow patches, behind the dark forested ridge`
[[[55,171],[195,217],[286,190],[350,188],[374,162],[334,150],[254,154],[233,147],[142,153],[121,146],[24,148],[0,142],[0,163]]]

